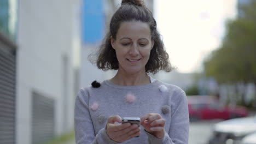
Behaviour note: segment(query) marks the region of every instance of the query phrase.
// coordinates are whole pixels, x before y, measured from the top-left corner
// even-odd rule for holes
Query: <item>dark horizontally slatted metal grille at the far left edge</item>
[[[15,143],[16,58],[0,39],[0,144]]]

